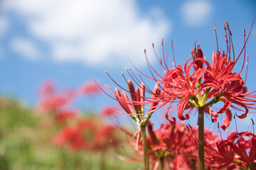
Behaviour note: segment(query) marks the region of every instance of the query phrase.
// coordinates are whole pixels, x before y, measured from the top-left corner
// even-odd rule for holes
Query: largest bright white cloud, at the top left
[[[5,5],[25,18],[58,62],[144,61],[144,48],[170,31],[161,11],[142,16],[133,0],[9,0]]]

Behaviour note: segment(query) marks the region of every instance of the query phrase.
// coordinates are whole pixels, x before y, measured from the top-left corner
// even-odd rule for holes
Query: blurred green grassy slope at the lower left
[[[114,151],[70,152],[51,142],[54,131],[43,125],[43,116],[13,98],[0,103],[0,170],[110,170],[139,169],[142,163],[123,162]],[[129,147],[126,147],[129,151]]]

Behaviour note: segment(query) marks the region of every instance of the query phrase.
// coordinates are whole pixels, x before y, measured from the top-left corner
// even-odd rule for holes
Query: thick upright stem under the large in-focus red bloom
[[[198,158],[199,170],[204,170],[204,121],[203,108],[198,108]]]

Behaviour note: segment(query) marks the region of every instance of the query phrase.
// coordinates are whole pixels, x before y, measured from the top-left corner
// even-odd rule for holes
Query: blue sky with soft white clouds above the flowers
[[[238,54],[243,45],[242,28],[249,32],[255,8],[253,0],[0,1],[0,93],[34,104],[36,91],[46,79],[71,88],[92,77],[111,84],[105,69],[120,79],[124,67],[131,67],[129,60],[148,72],[144,48],[154,64],[151,43],[161,55],[162,38],[166,52],[171,52],[174,40],[177,64],[183,65],[191,57],[195,42],[210,59],[216,50],[214,23],[220,46],[225,47],[226,21]],[[247,86],[252,91],[256,26],[246,49],[250,55]]]

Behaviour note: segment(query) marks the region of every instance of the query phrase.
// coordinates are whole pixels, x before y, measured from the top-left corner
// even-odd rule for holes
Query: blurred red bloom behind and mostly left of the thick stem
[[[153,124],[148,123],[149,162],[152,169],[159,166],[163,169],[198,169],[198,128],[186,126],[183,123],[161,124],[159,129],[154,130]],[[218,142],[219,136],[211,130],[205,131],[208,148],[212,148]],[[139,153],[142,142],[139,142]]]

